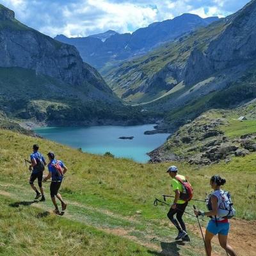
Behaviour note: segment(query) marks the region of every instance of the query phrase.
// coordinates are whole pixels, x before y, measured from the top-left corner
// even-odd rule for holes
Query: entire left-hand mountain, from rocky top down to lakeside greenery
[[[88,124],[126,116],[126,107],[74,46],[21,24],[3,5],[0,84],[0,108],[19,118]]]

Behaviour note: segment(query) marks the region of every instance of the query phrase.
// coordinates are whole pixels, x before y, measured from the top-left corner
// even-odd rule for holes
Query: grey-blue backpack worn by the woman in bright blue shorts
[[[231,200],[231,195],[228,191],[220,191],[220,196],[218,196],[218,200],[220,200],[220,206],[218,209],[218,216],[223,219],[231,219],[236,215],[236,210],[233,207],[233,203]],[[211,204],[211,195],[209,195],[209,198],[206,200],[207,207],[209,211],[212,210],[212,204]]]

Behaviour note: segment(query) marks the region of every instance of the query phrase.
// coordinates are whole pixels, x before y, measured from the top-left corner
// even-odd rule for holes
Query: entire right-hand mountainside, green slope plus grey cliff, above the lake
[[[120,65],[108,74],[107,81],[131,104],[162,97],[145,108],[169,111],[169,116],[176,111],[176,118],[184,116],[179,111],[184,106],[187,111],[194,109],[194,115],[202,106],[209,108],[207,102],[211,99],[211,104],[215,99],[221,106],[218,92],[227,93],[228,103],[222,102],[225,106],[251,99],[255,95],[255,15],[253,0],[234,15]],[[232,102],[234,88],[241,88],[241,99],[236,95]]]

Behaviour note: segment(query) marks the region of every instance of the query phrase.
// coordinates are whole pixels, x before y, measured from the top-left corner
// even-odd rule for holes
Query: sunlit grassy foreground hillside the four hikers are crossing
[[[54,252],[58,250],[56,243],[50,244],[49,249],[45,248],[44,244],[49,242],[50,232],[58,234],[58,237],[62,237],[61,239],[64,237],[64,241],[67,239],[66,243],[61,241],[60,252],[63,252],[64,244],[74,243],[74,246],[77,246],[77,243],[81,243],[79,252],[85,253],[84,255],[86,253],[100,255],[102,248],[107,252],[106,255],[159,255],[157,253],[164,250],[168,250],[170,254],[174,253],[173,255],[175,253],[176,255],[204,255],[200,236],[195,234],[197,230],[195,218],[189,215],[184,216],[186,222],[190,224],[189,234],[193,241],[182,246],[173,243],[176,230],[169,225],[166,218],[168,207],[154,207],[152,204],[156,196],[170,191],[170,177],[166,174],[166,168],[170,163],[138,164],[126,159],[84,154],[58,143],[3,130],[0,131],[0,143],[0,191],[2,195],[13,198],[10,202],[31,202],[33,199],[34,193],[28,184],[29,172],[23,164],[23,159],[28,157],[33,143],[39,143],[40,150],[44,154],[49,150],[54,150],[58,159],[62,159],[67,164],[69,172],[76,173],[67,178],[61,187],[61,193],[68,202],[67,214],[64,215],[64,218],[67,219],[48,216],[45,213],[47,216],[39,218],[38,223],[35,224],[36,228],[31,230],[32,234],[36,234],[37,227],[39,227],[43,234],[48,234],[48,236],[40,236],[42,242],[35,243],[38,255],[42,255],[44,250],[47,253],[50,249]],[[210,191],[211,175],[215,173],[223,175],[227,179],[225,189],[232,192],[237,217],[255,220],[255,204],[244,200],[247,184],[251,185],[248,196],[254,195],[251,188],[252,180],[255,180],[256,177],[255,154],[238,157],[228,165],[221,163],[198,168],[186,163],[176,164],[179,166],[180,173],[187,175],[193,184],[195,198],[204,199],[205,192]],[[234,176],[241,175],[241,168],[243,168],[243,179],[234,179]],[[36,215],[40,213],[42,215],[45,211],[52,209],[49,199],[49,184],[44,184],[44,186],[47,195],[45,203],[33,204],[29,207],[18,204],[19,207],[16,208],[6,205],[9,204],[9,199],[4,201],[2,215],[4,221],[1,220],[0,223],[3,227],[8,225],[7,214],[9,222],[13,223],[13,230],[19,230],[17,232],[20,234],[20,239],[14,236],[16,231],[10,232],[9,228],[1,228],[0,239],[4,244],[15,243],[15,250],[19,250],[20,255],[27,255],[26,253],[32,250],[31,244],[39,239],[39,236],[30,236],[26,231],[30,225],[36,222]],[[34,205],[42,209],[31,209],[30,207]],[[197,203],[196,206],[204,208],[204,204]],[[188,211],[193,212],[191,203]],[[17,218],[17,212],[20,214],[19,218]],[[15,221],[16,218],[17,221]],[[22,219],[24,222],[19,221]],[[31,219],[32,221],[26,227],[26,223]],[[206,222],[202,224],[206,225]],[[81,227],[79,227],[80,225]],[[55,228],[58,228],[58,232],[54,231]],[[109,236],[109,233],[124,238]],[[22,234],[26,234],[26,236],[22,236]],[[71,242],[67,237],[70,237]],[[154,241],[150,241],[153,237],[155,237]],[[141,244],[143,248],[134,243],[128,243],[126,239]],[[129,246],[125,248],[124,243]],[[97,244],[96,247],[99,248],[95,248],[93,251],[90,244]],[[15,255],[12,254],[11,245],[1,248],[1,250],[6,255]],[[216,253],[220,253],[218,246],[214,246],[214,250]],[[63,252],[59,255],[65,254]]]

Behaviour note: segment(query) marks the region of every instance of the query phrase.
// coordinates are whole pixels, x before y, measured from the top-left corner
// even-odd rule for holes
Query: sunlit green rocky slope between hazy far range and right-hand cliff
[[[205,47],[227,26],[219,20],[140,58],[122,63],[104,77],[118,95],[131,104],[150,102],[184,87],[184,70],[193,49]],[[181,84],[180,84],[181,83]]]

